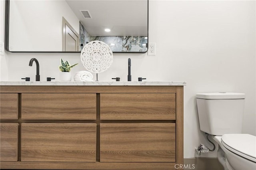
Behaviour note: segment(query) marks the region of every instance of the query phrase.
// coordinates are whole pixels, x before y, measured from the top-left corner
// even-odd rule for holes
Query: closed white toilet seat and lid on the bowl
[[[224,134],[222,145],[248,160],[256,162],[256,136],[250,134]]]

